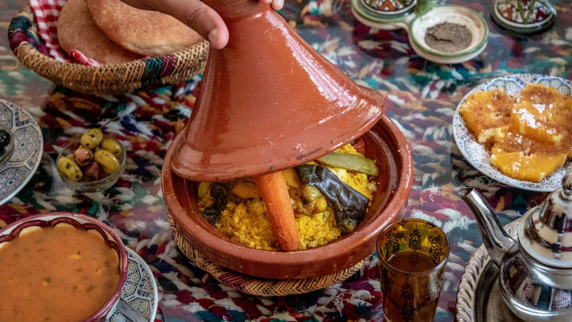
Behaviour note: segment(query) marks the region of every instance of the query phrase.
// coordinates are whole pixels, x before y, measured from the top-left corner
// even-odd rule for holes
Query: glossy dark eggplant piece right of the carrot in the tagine
[[[337,227],[344,234],[351,233],[366,217],[370,199],[341,181],[332,171],[315,164],[297,166],[296,171],[302,183],[316,187],[324,195],[333,208]]]

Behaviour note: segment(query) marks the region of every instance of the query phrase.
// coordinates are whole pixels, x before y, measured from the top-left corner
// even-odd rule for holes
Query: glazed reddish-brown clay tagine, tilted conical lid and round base
[[[385,99],[354,83],[317,53],[269,5],[204,0],[227,23],[230,41],[211,49],[189,124],[165,156],[161,180],[174,228],[217,265],[249,276],[324,276],[358,264],[401,217],[412,161]],[[379,121],[379,122],[378,122]],[[292,168],[363,136],[380,170],[366,218],[327,245],[293,252],[257,250],[210,225],[197,206],[198,181],[225,181]]]

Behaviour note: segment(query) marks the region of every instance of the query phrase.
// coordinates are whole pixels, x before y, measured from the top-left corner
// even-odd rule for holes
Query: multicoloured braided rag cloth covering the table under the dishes
[[[453,1],[491,21],[492,0]],[[26,3],[0,4],[4,34],[10,18]],[[507,223],[546,197],[494,182],[472,168],[452,138],[458,101],[472,87],[511,73],[572,78],[572,3],[553,0],[556,25],[535,36],[518,36],[489,23],[486,50],[464,64],[438,65],[415,54],[404,30],[370,29],[352,17],[348,1],[288,0],[280,13],[316,50],[358,83],[387,97],[387,114],[402,129],[415,162],[407,217],[436,223],[446,232],[451,255],[436,321],[453,321],[459,277],[482,243],[473,215],[456,195],[473,186]],[[45,140],[34,178],[0,206],[0,227],[32,214],[74,211],[112,226],[126,245],[150,265],[158,281],[157,321],[381,321],[382,294],[376,257],[347,281],[300,296],[259,297],[219,284],[190,265],[174,244],[161,195],[166,148],[192,110],[200,77],[172,87],[122,96],[96,97],[55,87],[24,68],[0,40],[0,98],[30,111]],[[59,179],[55,158],[86,128],[106,126],[128,151],[125,174],[102,193],[76,194]],[[98,125],[99,124],[99,125]]]

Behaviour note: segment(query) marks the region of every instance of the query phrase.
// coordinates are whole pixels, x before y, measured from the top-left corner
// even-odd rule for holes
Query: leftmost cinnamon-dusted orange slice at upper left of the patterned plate
[[[480,91],[467,97],[459,113],[479,143],[494,143],[509,129],[512,105],[503,91]]]

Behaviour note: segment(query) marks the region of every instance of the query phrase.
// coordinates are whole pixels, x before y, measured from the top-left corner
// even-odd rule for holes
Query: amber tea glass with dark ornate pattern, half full
[[[448,256],[447,236],[423,219],[402,219],[382,231],[378,262],[386,321],[434,320]]]

